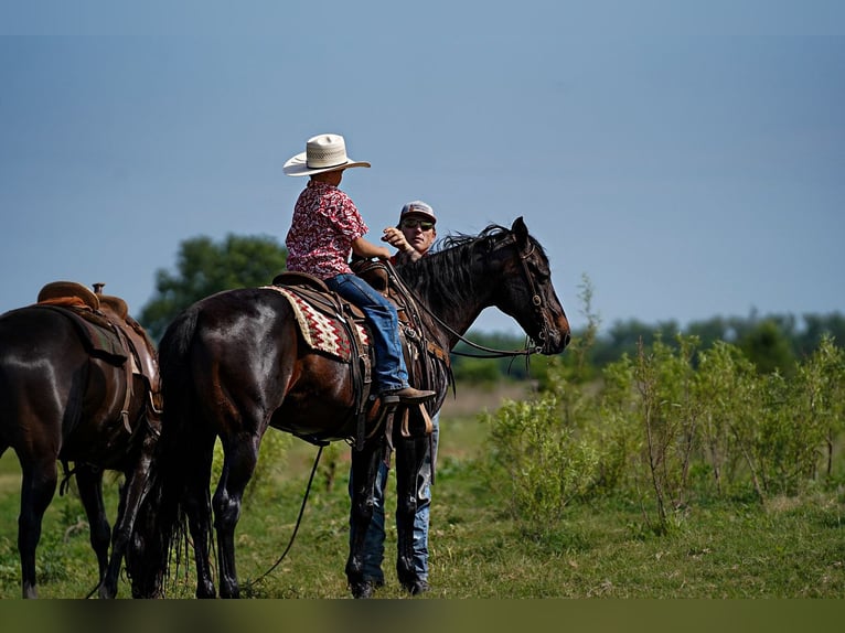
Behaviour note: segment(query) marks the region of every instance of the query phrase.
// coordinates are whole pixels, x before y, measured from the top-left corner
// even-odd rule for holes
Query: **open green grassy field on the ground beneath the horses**
[[[434,490],[431,591],[421,600],[527,598],[832,598],[845,597],[845,492],[801,497],[698,504],[655,536],[642,528],[642,508],[609,497],[570,506],[541,533],[502,512],[500,491],[480,476],[485,427],[475,412],[520,391],[459,389],[441,415],[441,452]],[[238,573],[254,598],[347,598],[349,449],[324,451],[302,525],[288,556],[317,449],[291,440],[268,483],[248,491],[238,526]],[[0,460],[0,598],[20,597],[17,460]],[[114,504],[116,484],[109,484]],[[393,490],[393,489],[392,489]],[[388,504],[393,503],[392,490]],[[110,515],[114,517],[114,509]],[[388,526],[389,526],[388,522]],[[386,586],[379,598],[405,598],[396,582],[395,532],[388,529]],[[191,566],[192,567],[192,566]],[[51,505],[39,549],[44,598],[83,598],[96,582],[82,506],[72,495]],[[193,570],[171,578],[169,597],[193,596]],[[120,597],[129,596],[121,583]]]

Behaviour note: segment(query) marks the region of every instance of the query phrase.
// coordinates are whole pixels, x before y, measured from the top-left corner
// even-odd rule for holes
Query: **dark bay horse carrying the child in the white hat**
[[[422,322],[418,356],[434,350],[428,369],[410,358],[422,376],[417,387],[434,389],[442,404],[451,377],[448,351],[484,308],[513,316],[543,354],[563,352],[569,323],[552,286],[548,259],[522,218],[510,229],[490,226],[480,235],[449,238],[447,247],[398,270],[417,300],[404,308]],[[406,332],[405,337],[408,337]],[[210,562],[212,508],[216,529],[220,593],[237,598],[235,527],[244,490],[253,475],[268,427],[299,437],[353,444],[353,526],[346,577],[353,596],[363,596],[362,548],[373,508],[375,479],[385,433],[355,441],[353,374],[350,363],[303,345],[289,303],[267,288],[245,288],[207,297],[182,312],[159,345],[164,415],[151,466],[152,486],[139,517],[140,558],[127,559],[132,578],[151,596],[161,594],[170,548],[183,537],[184,518],[193,536],[199,598],[213,598]],[[407,355],[407,348],[406,348]],[[421,383],[421,384],[420,384]],[[398,428],[402,425],[396,425]],[[398,432],[397,498],[403,521],[413,525],[416,472],[427,438]],[[224,463],[210,494],[215,438]],[[362,436],[359,436],[361,440]],[[149,505],[148,505],[149,504]],[[413,529],[399,530],[410,535]],[[407,588],[416,580],[410,538],[398,544],[397,571]],[[158,592],[158,593],[157,593]]]

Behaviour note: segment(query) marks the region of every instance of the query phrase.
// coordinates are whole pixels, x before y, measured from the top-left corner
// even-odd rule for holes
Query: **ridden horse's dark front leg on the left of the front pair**
[[[364,544],[373,518],[373,487],[384,442],[367,442],[362,450],[352,449],[352,479],[350,482],[352,511],[350,512],[350,555],[346,559],[346,581],[354,598],[370,598],[372,587],[364,580]]]

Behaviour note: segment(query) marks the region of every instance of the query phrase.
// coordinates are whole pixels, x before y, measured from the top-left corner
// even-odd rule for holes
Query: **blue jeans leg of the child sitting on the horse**
[[[329,289],[364,312],[372,325],[375,348],[373,393],[381,394],[408,386],[408,369],[399,341],[399,316],[396,308],[381,292],[356,275],[341,273],[325,279]]]

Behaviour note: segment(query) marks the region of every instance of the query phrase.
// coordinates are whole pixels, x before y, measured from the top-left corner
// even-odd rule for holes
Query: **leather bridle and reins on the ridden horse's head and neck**
[[[511,244],[516,244],[516,237],[512,233],[505,236],[502,240],[495,243],[493,245],[493,248],[491,249],[491,253],[499,250],[500,248],[503,248]],[[419,297],[403,282],[402,278],[396,272],[396,269],[393,267],[389,260],[385,261],[385,265],[387,266],[387,271],[388,271],[388,275],[392,277],[393,282],[399,286],[410,298],[413,298],[416,305],[422,308],[422,310],[429,316],[431,316],[431,319],[434,319],[443,330],[446,330],[449,334],[457,337],[459,341],[462,341],[470,347],[473,347],[481,352],[485,352],[485,354],[470,354],[467,352],[451,351],[451,354],[454,354],[456,356],[464,356],[470,358],[505,358],[505,357],[512,357],[512,356],[527,357],[527,356],[531,356],[532,354],[541,354],[543,352],[545,344],[549,340],[549,333],[552,330],[549,321],[546,318],[546,312],[543,309],[543,305],[544,305],[543,297],[537,290],[535,280],[532,277],[531,271],[528,270],[527,259],[534,254],[535,248],[536,248],[536,245],[530,242],[528,249],[525,253],[522,253],[522,251],[518,253],[520,262],[522,264],[522,269],[523,269],[523,272],[525,273],[525,280],[527,281],[527,286],[531,290],[531,294],[532,294],[531,302],[534,308],[534,313],[538,318],[537,320],[541,321],[542,323],[539,334],[537,335],[541,344],[537,345],[536,341],[533,341],[531,337],[528,337],[526,340],[526,346],[524,350],[495,350],[495,348],[486,347],[484,345],[480,345],[479,343],[474,343],[470,341],[469,339],[467,339],[466,336],[457,332],[454,329],[452,329],[448,323],[446,323],[437,314],[435,314],[424,301],[420,301]],[[535,343],[533,346],[530,345],[530,343],[532,342]]]

